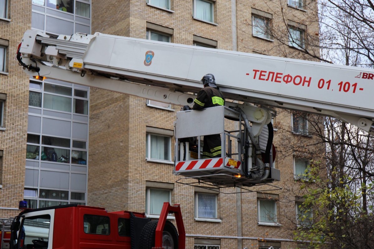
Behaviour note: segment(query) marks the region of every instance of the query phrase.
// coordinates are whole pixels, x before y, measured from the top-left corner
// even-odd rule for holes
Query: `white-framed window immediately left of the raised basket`
[[[147,134],[146,158],[162,161],[171,161],[171,137]]]

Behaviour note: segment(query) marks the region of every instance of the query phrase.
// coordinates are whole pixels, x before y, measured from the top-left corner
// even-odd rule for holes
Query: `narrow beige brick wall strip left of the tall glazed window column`
[[[14,59],[26,29],[31,28],[31,1],[10,0],[8,20],[0,19],[0,38],[9,41],[7,75],[0,73],[0,93],[6,94],[4,128],[0,130],[0,217],[18,214],[23,200],[28,113],[28,77]],[[30,10],[25,12],[24,10]]]

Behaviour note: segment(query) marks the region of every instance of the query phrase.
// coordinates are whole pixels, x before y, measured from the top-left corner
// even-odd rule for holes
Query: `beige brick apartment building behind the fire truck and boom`
[[[25,199],[35,200],[37,203],[35,205],[40,207],[40,203],[48,201],[41,196],[42,191],[59,190],[56,186],[46,186],[42,183],[45,168],[52,165],[53,169],[47,170],[52,172],[54,177],[61,178],[68,174],[68,183],[61,191],[67,192],[70,197],[68,199],[61,197],[58,200],[60,204],[86,203],[104,207],[108,211],[126,209],[145,212],[148,217],[154,218],[157,217],[157,201],[169,200],[171,203],[180,203],[187,233],[186,248],[297,247],[289,231],[292,223],[282,215],[294,214],[294,222],[296,222],[295,194],[290,195],[282,191],[270,191],[266,194],[257,192],[217,194],[175,183],[178,177],[172,174],[174,158],[172,134],[175,112],[180,110],[179,106],[163,105],[96,88],[88,90],[59,82],[40,83],[73,89],[72,101],[76,98],[74,95],[76,89],[89,93],[86,97],[89,98],[89,112],[79,115],[78,122],[73,109],[71,118],[65,120],[71,122],[73,128],[76,123],[79,123],[80,127],[88,126],[88,129],[84,130],[88,133],[88,137],[79,137],[74,130],[70,135],[62,136],[64,139],[71,140],[70,147],[67,149],[70,154],[76,150],[73,146],[74,141],[89,145],[87,148],[80,148],[88,153],[85,158],[87,163],[74,164],[71,158],[68,163],[70,168],[63,169],[62,164],[59,165],[58,162],[47,165],[42,159],[28,158],[26,160],[27,183],[25,183],[26,145],[28,148],[41,146],[40,151],[42,151],[43,136],[58,135],[46,134],[43,130],[39,133],[30,131],[28,129],[30,124],[25,125],[30,122],[30,116],[40,117],[41,122],[44,122],[43,120],[50,118],[52,114],[46,114],[45,110],[48,108],[44,106],[40,107],[40,114],[30,114],[30,110],[28,111],[30,81],[21,72],[18,63],[13,60],[13,55],[26,29],[34,28],[57,34],[58,28],[55,25],[48,26],[49,23],[56,22],[50,21],[50,18],[58,16],[59,21],[68,22],[71,16],[74,20],[71,21],[74,32],[87,32],[88,28],[91,33],[102,32],[239,52],[300,57],[301,53],[297,47],[308,46],[308,43],[314,42],[313,37],[318,35],[315,1],[78,0],[74,5],[76,9],[66,17],[59,16],[58,12],[52,13],[53,7],[48,6],[48,0],[47,3],[43,0],[33,0],[32,3],[14,0],[5,2],[8,6],[7,15],[3,18],[0,16],[0,48],[1,46],[7,48],[6,68],[3,71],[0,68],[0,101],[4,103],[3,123],[0,125],[2,217],[16,214],[16,205],[23,196]],[[18,13],[21,12],[19,8],[21,2],[27,6],[22,8],[22,13]],[[86,18],[87,16],[82,12],[77,12],[77,6],[82,4],[89,4],[91,7],[89,18]],[[24,11],[25,9],[32,9],[32,11],[28,13]],[[45,21],[42,27],[40,20],[43,13]],[[289,41],[289,37],[294,40]],[[219,79],[216,80],[219,84]],[[41,89],[40,93],[46,94],[43,85]],[[38,107],[36,109],[39,110]],[[64,112],[64,114],[68,113]],[[307,128],[301,125],[301,121],[296,120],[299,119],[296,119],[292,113],[282,111],[274,122],[282,124],[284,129],[294,129],[291,139],[292,136],[297,139],[305,135]],[[275,135],[274,144],[280,146],[282,138]],[[40,136],[39,143],[28,139],[32,136]],[[313,138],[306,137],[306,139]],[[164,146],[165,151],[157,152],[157,156],[153,156],[154,148],[151,146],[153,143],[158,147]],[[39,155],[41,156],[41,153]],[[295,155],[284,156],[282,160],[277,159],[275,167],[281,171],[281,182],[276,185],[283,187],[288,182],[293,182],[295,174],[306,166],[304,163],[305,161],[298,160]],[[35,185],[34,183],[30,185],[28,172],[37,175],[37,178],[33,178],[36,179]],[[87,182],[77,186],[74,181]],[[36,191],[36,195],[26,196],[25,189]],[[74,196],[83,194],[84,197],[73,198],[71,194]],[[199,204],[200,208],[205,209],[199,209],[198,203],[201,204]],[[266,208],[272,209],[275,214],[270,214],[270,218],[262,217],[263,213],[270,212],[264,210]],[[203,211],[206,213],[201,215],[200,212]]]

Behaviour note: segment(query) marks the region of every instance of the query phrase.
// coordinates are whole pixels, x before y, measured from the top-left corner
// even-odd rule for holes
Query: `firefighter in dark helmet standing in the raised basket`
[[[197,93],[192,109],[201,110],[213,106],[223,106],[225,99],[215,84],[214,75],[206,74],[201,81],[204,88]],[[221,157],[221,135],[213,134],[204,136],[203,158]]]

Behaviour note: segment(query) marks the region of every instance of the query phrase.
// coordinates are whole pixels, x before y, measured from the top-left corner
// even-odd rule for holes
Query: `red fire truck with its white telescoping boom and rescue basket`
[[[174,174],[180,183],[218,192],[233,187],[250,191],[254,185],[272,186],[280,180],[279,170],[272,166],[274,108],[333,116],[374,134],[372,69],[101,33],[50,37],[33,30],[25,32],[17,59],[37,80],[46,77],[180,106],[191,106],[202,88],[200,78],[213,74],[230,101],[202,111],[177,112]],[[221,155],[203,158],[203,137],[212,134],[221,136]],[[180,211],[166,204],[158,222],[142,214],[85,206],[23,211],[12,223],[10,246],[183,249],[181,216],[179,242],[175,227],[165,222],[168,212],[179,216]],[[131,217],[142,221],[133,221],[139,226],[121,237],[120,220],[129,219],[125,223],[131,227]],[[49,230],[33,238],[27,232],[31,224]],[[146,236],[146,244],[139,245],[137,236]]]

